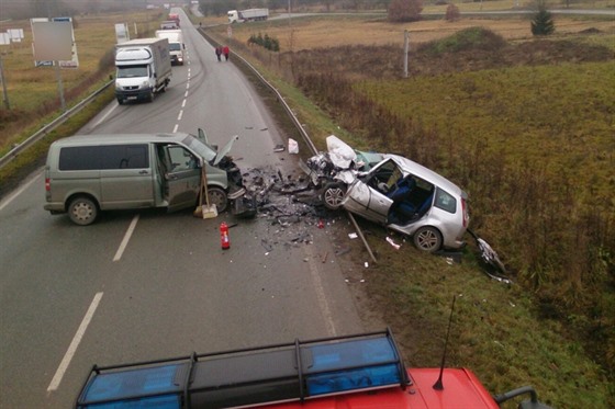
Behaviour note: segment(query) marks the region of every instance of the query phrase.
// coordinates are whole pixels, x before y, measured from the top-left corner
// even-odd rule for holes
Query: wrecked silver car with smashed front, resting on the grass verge
[[[337,152],[342,151],[339,143],[339,139],[335,143]],[[468,194],[459,186],[398,155],[377,154],[381,156],[380,162],[370,163],[365,171],[365,163],[357,166],[360,161],[353,158],[351,148],[343,151],[346,162],[336,161],[325,178],[322,172],[314,177],[326,169],[322,158],[320,162],[314,162],[313,158],[308,160],[312,179],[321,179],[322,200],[327,208],[343,207],[411,236],[416,248],[423,251],[459,249],[465,245]],[[329,148],[329,159],[331,154]],[[333,158],[339,159],[339,155],[334,154]],[[314,168],[315,163],[320,168]]]

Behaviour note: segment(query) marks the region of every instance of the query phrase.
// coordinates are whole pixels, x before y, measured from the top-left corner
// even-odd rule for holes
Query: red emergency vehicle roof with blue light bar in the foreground
[[[443,360],[444,361],[444,360]],[[491,396],[466,368],[406,370],[389,329],[128,365],[94,365],[86,408],[548,409],[532,387]]]

